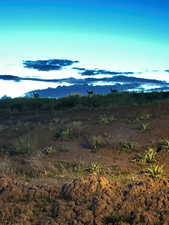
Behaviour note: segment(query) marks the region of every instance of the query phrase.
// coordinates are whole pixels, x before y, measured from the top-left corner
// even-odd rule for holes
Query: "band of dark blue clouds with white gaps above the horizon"
[[[104,68],[88,69],[84,67],[72,67],[74,63],[78,62],[79,61],[68,59],[24,61],[23,65],[28,69],[35,69],[44,72],[60,72],[39,73],[39,77],[36,74],[34,74],[34,77],[31,77],[30,75],[33,73],[30,72],[29,75],[29,71],[29,76],[0,75],[1,90],[3,90],[3,87],[7,87],[8,89],[7,85],[10,84],[13,85],[14,90],[17,86],[22,89],[25,88],[24,90],[28,93],[28,95],[31,94],[31,90],[34,90],[39,92],[41,96],[45,97],[61,97],[72,92],[78,92],[85,95],[87,94],[88,89],[91,89],[92,91],[100,94],[110,93],[112,89],[115,89],[117,91],[169,90],[169,80],[166,79],[166,81],[162,81],[160,77],[160,71],[149,71],[148,73],[125,71],[118,72],[107,70]],[[68,67],[70,69],[61,71],[65,67]],[[162,72],[164,72],[165,76],[167,77],[169,70],[165,70]],[[43,76],[41,76],[41,74],[43,74]],[[17,84],[14,82],[17,82]],[[5,89],[6,88],[4,88],[4,93],[6,91]],[[16,90],[14,92],[16,92]],[[23,92],[23,94],[25,92]]]

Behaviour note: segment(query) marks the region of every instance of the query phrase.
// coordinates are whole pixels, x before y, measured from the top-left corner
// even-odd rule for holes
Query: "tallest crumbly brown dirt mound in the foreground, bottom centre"
[[[61,195],[71,203],[67,206],[69,216],[66,221],[70,224],[105,224],[104,218],[112,213],[113,205],[116,204],[118,194],[115,185],[112,185],[106,177],[91,174],[87,177],[74,180],[62,187]],[[61,205],[58,205],[63,212]],[[58,210],[58,218],[65,217]]]

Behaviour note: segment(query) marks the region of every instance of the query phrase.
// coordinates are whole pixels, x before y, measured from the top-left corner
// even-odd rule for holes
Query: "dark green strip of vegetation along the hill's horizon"
[[[92,93],[93,94],[93,93]],[[70,108],[118,107],[124,105],[148,104],[169,99],[169,92],[112,92],[107,95],[93,94],[81,96],[72,94],[59,99],[53,98],[15,98],[0,100],[0,113],[49,111]]]

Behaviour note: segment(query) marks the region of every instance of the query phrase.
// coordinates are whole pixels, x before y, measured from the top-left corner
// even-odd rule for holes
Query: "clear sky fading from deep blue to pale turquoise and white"
[[[23,66],[23,60],[68,59],[87,69],[141,71],[137,76],[168,81],[166,0],[2,0],[0,11],[2,75],[79,77],[72,67],[42,72]],[[19,88],[8,84],[0,81],[0,96]]]

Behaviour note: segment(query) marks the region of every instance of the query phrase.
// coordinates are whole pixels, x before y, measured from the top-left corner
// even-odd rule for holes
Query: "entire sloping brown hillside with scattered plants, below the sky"
[[[0,100],[0,224],[169,224],[169,93]]]

